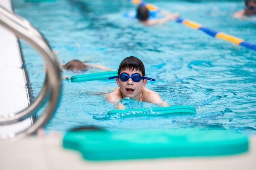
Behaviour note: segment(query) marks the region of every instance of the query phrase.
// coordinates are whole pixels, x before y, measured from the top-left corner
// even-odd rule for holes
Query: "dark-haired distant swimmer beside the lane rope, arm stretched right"
[[[137,19],[140,20],[140,23],[143,25],[153,26],[155,24],[165,23],[179,17],[178,13],[172,14],[171,12],[167,12],[167,11],[164,11],[164,13],[166,15],[165,18],[149,20],[148,9],[146,8],[146,6],[141,5],[137,9]]]

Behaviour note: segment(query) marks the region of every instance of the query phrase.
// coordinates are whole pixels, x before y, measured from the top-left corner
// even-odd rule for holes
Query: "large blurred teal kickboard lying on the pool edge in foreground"
[[[248,137],[228,130],[83,130],[66,133],[63,147],[93,161],[222,156],[247,151]]]

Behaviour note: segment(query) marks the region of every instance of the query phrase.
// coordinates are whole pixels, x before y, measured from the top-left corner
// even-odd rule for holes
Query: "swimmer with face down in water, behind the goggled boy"
[[[105,71],[113,71],[113,69],[108,68],[104,65],[94,65],[94,64],[83,63],[80,60],[71,60],[61,67],[63,69],[71,70],[71,71],[84,71],[84,70],[88,70],[89,68],[98,68]],[[70,79],[70,76],[64,76],[62,78]]]

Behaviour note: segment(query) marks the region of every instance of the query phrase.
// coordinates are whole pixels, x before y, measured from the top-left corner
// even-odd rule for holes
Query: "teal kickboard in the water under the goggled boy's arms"
[[[196,108],[192,106],[168,106],[168,107],[155,107],[155,108],[141,108],[141,109],[126,109],[126,110],[111,110],[108,115],[119,114],[121,116],[140,116],[143,111],[143,116],[168,116],[168,115],[193,115],[196,114]],[[145,113],[146,111],[146,113]]]

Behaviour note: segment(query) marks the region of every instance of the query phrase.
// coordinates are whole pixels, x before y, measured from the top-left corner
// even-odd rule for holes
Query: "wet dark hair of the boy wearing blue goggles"
[[[119,65],[117,74],[120,75],[121,71],[129,69],[130,71],[141,71],[141,76],[145,76],[145,68],[143,62],[137,57],[126,57]]]

